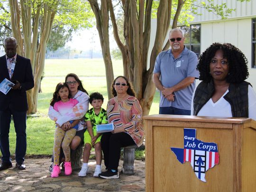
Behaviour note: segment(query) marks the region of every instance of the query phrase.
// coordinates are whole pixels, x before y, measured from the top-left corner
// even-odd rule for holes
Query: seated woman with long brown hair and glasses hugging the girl
[[[71,129],[70,120],[81,119],[84,117],[85,113],[89,109],[89,96],[88,92],[83,88],[82,81],[78,78],[77,75],[70,73],[65,77],[65,83],[67,83],[69,92],[71,94],[71,98],[78,100],[78,104],[73,107],[73,109],[64,116],[61,116],[60,113],[55,111],[52,106],[49,108],[48,115],[49,117],[56,122],[56,124],[60,125],[61,128],[66,131]],[[78,129],[76,134],[70,143],[71,150],[76,150],[78,146],[83,146],[83,134],[85,131],[84,120],[81,120],[78,123]],[[72,155],[72,153],[71,153]],[[64,161],[63,151],[60,154],[60,161]],[[53,158],[52,158],[53,162]],[[49,167],[49,171],[52,172],[53,164]]]

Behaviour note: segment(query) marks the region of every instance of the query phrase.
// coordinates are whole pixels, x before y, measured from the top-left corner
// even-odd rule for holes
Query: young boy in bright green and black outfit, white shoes
[[[98,177],[101,173],[101,134],[97,134],[96,125],[108,123],[107,111],[101,108],[103,100],[104,98],[99,92],[93,92],[90,95],[89,102],[93,108],[85,114],[87,130],[84,133],[83,164],[78,176],[86,176],[92,146],[94,146],[96,156],[96,168],[93,176]]]

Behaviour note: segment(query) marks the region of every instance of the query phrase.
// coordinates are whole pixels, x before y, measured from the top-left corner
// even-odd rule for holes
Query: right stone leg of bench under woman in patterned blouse
[[[134,159],[135,159],[135,150],[138,148],[137,145],[130,145],[124,147],[124,161],[123,161],[123,168],[121,173],[122,174],[134,174]]]

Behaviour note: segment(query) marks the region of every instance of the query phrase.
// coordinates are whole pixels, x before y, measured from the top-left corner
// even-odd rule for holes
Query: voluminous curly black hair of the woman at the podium
[[[228,83],[241,83],[249,76],[247,58],[241,50],[230,43],[213,43],[207,50],[199,56],[197,70],[200,73],[199,80],[209,83],[212,79],[210,75],[210,61],[215,56],[217,50],[223,51],[223,56],[229,63]]]

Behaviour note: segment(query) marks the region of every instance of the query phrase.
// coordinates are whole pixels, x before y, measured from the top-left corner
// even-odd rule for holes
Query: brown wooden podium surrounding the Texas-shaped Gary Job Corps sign
[[[146,192],[256,191],[256,121],[250,118],[145,116]],[[181,164],[171,147],[184,148],[183,128],[218,145],[219,164],[202,182],[190,162]]]

